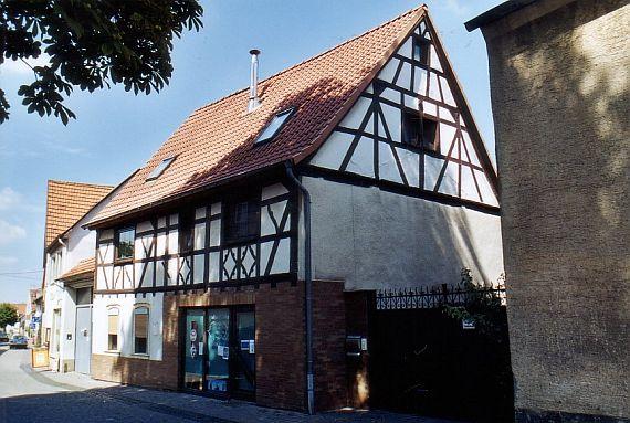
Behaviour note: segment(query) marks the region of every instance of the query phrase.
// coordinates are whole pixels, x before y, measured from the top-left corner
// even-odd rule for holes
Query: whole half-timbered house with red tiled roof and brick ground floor
[[[93,376],[365,404],[370,293],[502,273],[495,171],[426,7],[252,76],[90,222]]]

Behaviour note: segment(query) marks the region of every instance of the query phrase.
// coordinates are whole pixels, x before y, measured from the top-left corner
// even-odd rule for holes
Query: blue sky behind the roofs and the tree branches
[[[487,56],[479,31],[463,23],[502,0],[427,1],[480,130],[494,155]],[[203,1],[203,29],[176,42],[175,74],[160,94],[122,87],[78,89],[66,102],[77,119],[29,115],[15,92],[32,73],[0,66],[12,105],[0,125],[0,303],[24,303],[41,284],[48,179],[117,184],[143,166],[197,107],[249,84],[249,50],[261,54],[261,77],[321,53],[419,4],[413,0]],[[40,272],[40,273],[38,273]]]

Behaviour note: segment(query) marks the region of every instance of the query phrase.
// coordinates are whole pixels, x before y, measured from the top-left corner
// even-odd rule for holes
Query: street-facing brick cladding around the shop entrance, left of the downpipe
[[[164,299],[162,360],[93,355],[94,379],[160,389],[178,389],[179,321],[186,307],[255,306],[256,403],[305,410],[304,284],[279,283],[259,289],[196,292]]]

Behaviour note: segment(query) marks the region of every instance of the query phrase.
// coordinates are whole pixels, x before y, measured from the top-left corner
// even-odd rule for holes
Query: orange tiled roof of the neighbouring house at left
[[[45,247],[112,192],[112,186],[52,181],[48,183]]]

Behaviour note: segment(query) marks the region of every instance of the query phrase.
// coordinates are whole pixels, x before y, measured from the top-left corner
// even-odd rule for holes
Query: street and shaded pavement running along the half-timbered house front
[[[95,381],[77,373],[34,371],[29,350],[0,347],[0,422],[453,423],[380,411],[315,416]]]

